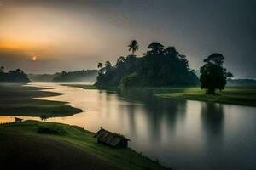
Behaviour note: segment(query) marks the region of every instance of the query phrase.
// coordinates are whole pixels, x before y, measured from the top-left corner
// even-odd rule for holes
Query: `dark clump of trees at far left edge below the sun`
[[[28,83],[31,81],[20,69],[5,72],[4,67],[2,66],[0,68],[0,82]]]

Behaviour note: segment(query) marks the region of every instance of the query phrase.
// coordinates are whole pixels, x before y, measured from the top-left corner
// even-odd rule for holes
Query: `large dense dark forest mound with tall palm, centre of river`
[[[148,45],[143,57],[134,55],[138,48],[136,40],[128,46],[132,54],[119,57],[115,65],[109,61],[98,64],[99,75],[96,87],[160,87],[195,86],[199,79],[189,69],[186,56],[177,52],[175,47],[164,48],[160,43]]]

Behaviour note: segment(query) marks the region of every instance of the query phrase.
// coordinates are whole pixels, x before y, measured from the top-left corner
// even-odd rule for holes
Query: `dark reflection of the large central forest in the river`
[[[141,101],[146,104],[143,108],[146,120],[146,132],[151,142],[155,144],[162,139],[163,131],[173,133],[178,121],[183,120],[187,101],[175,99],[154,98],[154,94],[166,93],[166,89],[143,89],[143,88],[123,88],[119,94],[126,99]],[[129,105],[129,123],[132,131],[137,131],[139,127],[135,114],[136,106]],[[164,125],[164,126],[163,126]],[[165,128],[165,129],[163,129]],[[135,134],[135,133],[134,133]]]

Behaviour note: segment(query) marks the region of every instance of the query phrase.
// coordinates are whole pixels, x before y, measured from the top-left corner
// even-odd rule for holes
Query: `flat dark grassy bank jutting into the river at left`
[[[43,88],[33,88],[21,84],[0,84],[1,116],[71,116],[82,110],[73,108],[65,102],[46,101],[42,98],[61,95],[43,92]]]

